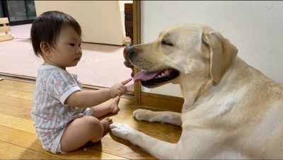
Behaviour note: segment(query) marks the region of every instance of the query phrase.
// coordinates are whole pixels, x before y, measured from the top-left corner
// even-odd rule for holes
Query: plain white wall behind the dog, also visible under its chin
[[[168,25],[203,23],[219,30],[238,56],[283,82],[283,1],[141,1],[141,42],[151,42]],[[141,91],[181,96],[178,85]]]

